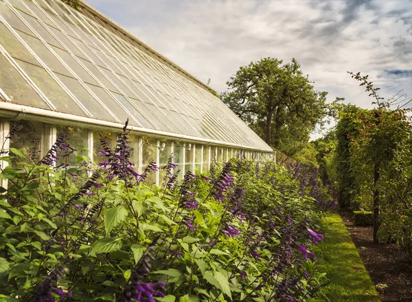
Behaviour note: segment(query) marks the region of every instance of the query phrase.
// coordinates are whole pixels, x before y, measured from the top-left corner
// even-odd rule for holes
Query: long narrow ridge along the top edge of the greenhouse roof
[[[65,3],[65,2],[63,2],[63,3]],[[93,6],[91,6],[86,1],[80,0],[79,5],[80,5],[81,9],[89,10],[89,12],[91,12],[92,14],[97,16],[98,18],[102,19],[102,21],[104,21],[106,23],[109,23],[111,26],[115,27],[115,29],[118,29],[120,32],[122,32],[123,34],[126,34],[132,40],[135,40],[135,42],[137,42],[139,45],[141,45],[141,47],[144,47],[144,49],[146,49],[147,51],[152,53],[152,55],[155,55],[155,57],[165,61],[168,64],[170,64],[172,67],[176,68],[178,71],[180,71],[181,73],[183,73],[184,75],[186,75],[187,77],[192,79],[192,81],[194,81],[196,84],[198,84],[201,87],[205,88],[206,90],[208,90],[209,92],[211,92],[215,96],[218,95],[218,92],[216,90],[214,90],[214,88],[211,88],[209,85],[205,84],[203,81],[201,81],[200,79],[198,79],[197,77],[195,77],[194,75],[192,75],[191,73],[186,71],[185,68],[181,67],[179,64],[176,64],[175,62],[173,62],[172,60],[167,58],[165,55],[161,54],[159,51],[157,51],[156,49],[154,49],[150,45],[146,44],[146,42],[144,42],[143,40],[140,40],[139,38],[137,38],[137,36],[135,36],[134,34],[129,32],[126,28],[122,27],[122,25],[119,25],[118,23],[113,21],[111,18],[109,18],[108,16],[106,16],[105,14],[103,14],[102,12],[97,10],[96,8],[93,8]],[[70,5],[68,5],[68,6],[70,7]],[[71,8],[71,9],[73,9],[73,8]],[[79,10],[79,12],[83,13],[82,10]]]

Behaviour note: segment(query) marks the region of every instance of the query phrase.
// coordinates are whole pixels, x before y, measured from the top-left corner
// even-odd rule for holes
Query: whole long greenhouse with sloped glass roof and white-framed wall
[[[87,3],[75,10],[54,0],[0,1],[0,27],[2,140],[23,119],[45,152],[70,126],[71,146],[98,162],[98,134],[114,142],[128,120],[139,171],[171,153],[181,175],[208,171],[214,160],[273,154],[214,90]],[[30,148],[30,132],[5,147]]]

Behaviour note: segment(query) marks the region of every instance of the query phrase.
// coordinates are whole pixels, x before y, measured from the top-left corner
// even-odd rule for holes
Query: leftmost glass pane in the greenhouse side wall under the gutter
[[[14,126],[15,122],[10,123],[10,129]],[[45,124],[32,121],[21,121],[21,129],[16,131],[16,134],[10,139],[10,148],[16,148],[22,151],[26,158],[21,158],[18,161],[37,163],[41,160],[41,157],[48,151],[44,146],[47,146],[47,142],[43,140],[45,136]],[[17,160],[12,160],[12,165],[16,165]]]

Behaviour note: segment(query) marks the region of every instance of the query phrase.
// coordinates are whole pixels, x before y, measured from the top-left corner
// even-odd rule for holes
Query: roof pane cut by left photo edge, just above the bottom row
[[[40,65],[33,55],[24,47],[23,44],[8,30],[3,23],[0,23],[0,45],[13,57],[32,64]]]

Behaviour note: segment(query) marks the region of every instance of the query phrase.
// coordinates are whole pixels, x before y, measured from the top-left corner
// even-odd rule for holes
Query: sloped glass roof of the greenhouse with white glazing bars
[[[105,20],[60,0],[0,0],[0,96],[101,121],[129,118],[142,131],[272,151],[207,86]]]

